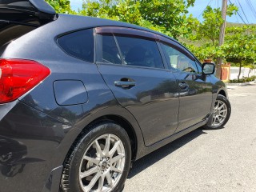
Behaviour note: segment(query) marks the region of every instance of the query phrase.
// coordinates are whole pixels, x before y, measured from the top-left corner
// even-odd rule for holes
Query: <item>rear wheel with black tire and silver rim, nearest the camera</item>
[[[66,157],[62,191],[122,191],[131,162],[128,134],[121,126],[109,121],[98,122],[87,130]]]

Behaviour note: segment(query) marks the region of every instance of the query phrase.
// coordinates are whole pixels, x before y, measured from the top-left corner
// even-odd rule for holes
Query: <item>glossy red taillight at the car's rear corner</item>
[[[50,70],[38,62],[0,59],[0,103],[16,100],[49,74]]]

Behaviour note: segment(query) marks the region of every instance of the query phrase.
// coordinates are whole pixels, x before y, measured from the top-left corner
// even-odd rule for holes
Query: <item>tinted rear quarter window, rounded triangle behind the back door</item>
[[[58,38],[58,45],[75,58],[94,62],[94,30],[80,30]]]

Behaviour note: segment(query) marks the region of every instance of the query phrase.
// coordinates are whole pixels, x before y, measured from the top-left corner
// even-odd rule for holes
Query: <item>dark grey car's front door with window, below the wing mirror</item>
[[[210,78],[202,74],[201,64],[183,46],[171,40],[162,42],[161,46],[179,87],[177,133],[209,117],[213,87]]]

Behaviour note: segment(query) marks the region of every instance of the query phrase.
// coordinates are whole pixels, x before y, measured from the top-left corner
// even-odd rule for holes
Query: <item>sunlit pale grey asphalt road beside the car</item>
[[[194,130],[139,159],[125,192],[256,191],[256,85],[228,89],[222,130]]]

